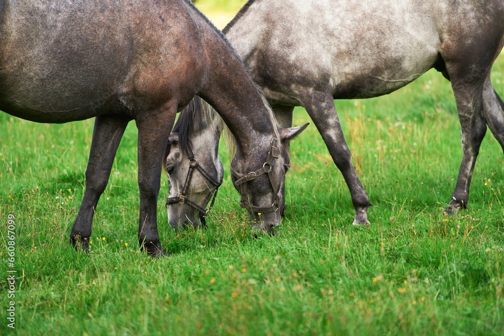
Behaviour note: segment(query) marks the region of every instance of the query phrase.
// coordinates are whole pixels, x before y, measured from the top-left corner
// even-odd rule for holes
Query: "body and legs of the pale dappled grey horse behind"
[[[504,103],[490,82],[503,18],[500,0],[249,0],[223,32],[280,125],[291,126],[295,106],[306,109],[350,189],[353,223],[366,224],[371,204],[333,100],[385,95],[429,69],[441,72],[462,128],[462,164],[446,209],[456,214],[467,206],[487,125],[504,149]]]

